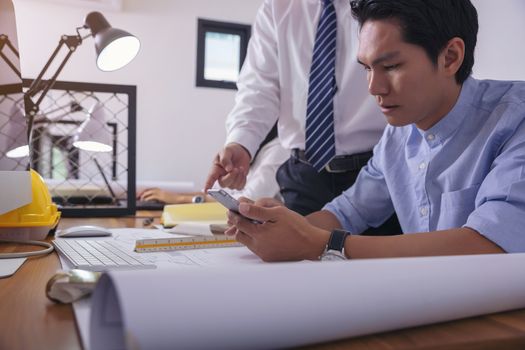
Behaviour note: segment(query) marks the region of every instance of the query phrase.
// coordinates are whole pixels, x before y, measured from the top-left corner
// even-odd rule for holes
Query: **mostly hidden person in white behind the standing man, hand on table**
[[[277,169],[288,159],[289,152],[280,144],[277,137],[277,125],[268,133],[261,148],[255,153],[246,177],[246,185],[242,190],[227,190],[234,197],[280,199],[279,185],[275,178]],[[166,204],[183,204],[192,202],[214,202],[215,199],[204,192],[177,193],[148,188],[137,194],[137,199],[145,201],[159,201]]]

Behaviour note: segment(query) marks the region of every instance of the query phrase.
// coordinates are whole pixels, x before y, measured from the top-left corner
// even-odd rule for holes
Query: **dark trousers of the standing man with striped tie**
[[[318,173],[311,165],[292,156],[281,165],[276,176],[286,207],[301,215],[308,215],[321,210],[326,203],[352,186],[360,170],[358,167],[340,173],[330,173],[326,170]],[[380,227],[370,228],[363,234],[394,235],[400,233],[401,227],[394,214]]]

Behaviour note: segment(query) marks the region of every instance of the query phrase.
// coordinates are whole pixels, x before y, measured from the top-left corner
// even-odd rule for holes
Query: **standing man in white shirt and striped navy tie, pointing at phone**
[[[303,215],[351,186],[386,125],[357,63],[347,0],[265,0],[205,189],[243,188],[250,159],[278,121],[290,159],[277,173],[285,205]]]

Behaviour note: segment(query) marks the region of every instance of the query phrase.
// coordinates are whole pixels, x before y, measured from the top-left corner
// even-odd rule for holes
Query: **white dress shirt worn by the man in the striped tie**
[[[357,63],[358,24],[348,0],[334,0],[337,13],[334,97],[336,154],[371,150],[386,120],[367,89]],[[253,25],[236,103],[226,121],[226,143],[251,155],[279,119],[285,149],[304,149],[308,77],[321,0],[265,0]]]

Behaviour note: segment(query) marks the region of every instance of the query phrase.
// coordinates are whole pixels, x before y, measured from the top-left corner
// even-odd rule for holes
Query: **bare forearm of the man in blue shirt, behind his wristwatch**
[[[505,252],[469,228],[397,236],[349,236],[345,251],[349,257],[357,259]]]

